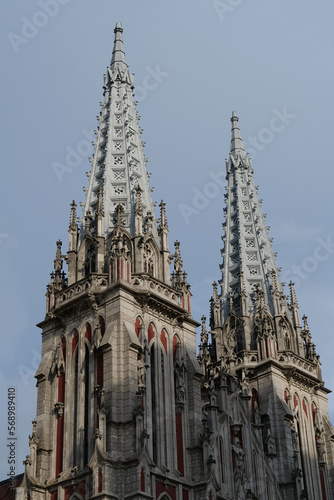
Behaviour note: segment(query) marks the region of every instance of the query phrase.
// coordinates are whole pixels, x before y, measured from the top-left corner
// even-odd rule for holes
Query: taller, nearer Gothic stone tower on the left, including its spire
[[[38,325],[22,499],[187,499],[202,460],[198,323],[163,201],[154,216],[122,32],[118,23],[83,217],[73,201]]]

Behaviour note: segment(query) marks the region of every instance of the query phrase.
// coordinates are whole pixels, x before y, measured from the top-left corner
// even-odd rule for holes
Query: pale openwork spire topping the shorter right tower
[[[251,160],[245,152],[235,112],[231,122],[231,150],[229,159],[226,160],[228,186],[225,195],[225,235],[221,266],[223,322],[229,313],[231,292],[236,312],[242,315],[254,309],[255,291],[258,288],[263,291],[264,303],[272,315],[275,315],[273,291],[275,294],[283,294],[271,247],[272,239],[268,235],[269,228],[266,227],[261,200],[253,181]]]

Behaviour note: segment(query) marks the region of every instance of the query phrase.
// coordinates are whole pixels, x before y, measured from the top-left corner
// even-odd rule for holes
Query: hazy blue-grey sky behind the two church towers
[[[17,391],[17,472],[29,451],[35,324],[45,315],[56,240],[67,249],[70,203],[84,200],[117,21],[153,199],[167,204],[171,250],[181,241],[194,318],[209,316],[211,283],[221,277],[224,186],[213,176],[224,179],[236,110],[281,279],[296,284],[334,389],[334,3],[15,0],[1,10],[0,479],[8,473],[8,387]],[[333,395],[329,407],[333,422]]]

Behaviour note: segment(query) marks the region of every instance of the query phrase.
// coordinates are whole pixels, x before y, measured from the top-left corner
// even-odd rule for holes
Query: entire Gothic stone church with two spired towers
[[[198,322],[163,201],[155,218],[120,23],[114,32],[83,217],[73,201],[38,325],[16,498],[330,500],[330,391],[292,282],[284,294],[238,117],[221,273]]]

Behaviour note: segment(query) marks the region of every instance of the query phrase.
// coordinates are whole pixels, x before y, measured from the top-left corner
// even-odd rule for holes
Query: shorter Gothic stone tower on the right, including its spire
[[[300,323],[293,283],[289,302],[284,295],[235,113],[231,122],[221,293],[214,283],[212,344],[205,334],[200,352],[210,439],[221,439],[225,447],[222,471],[233,498],[329,500],[334,498],[330,391],[307,317]],[[222,425],[214,423],[212,395]]]

